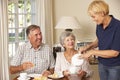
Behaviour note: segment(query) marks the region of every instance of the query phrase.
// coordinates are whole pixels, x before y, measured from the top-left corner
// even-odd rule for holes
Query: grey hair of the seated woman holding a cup
[[[66,37],[73,37],[75,40],[75,35],[72,32],[65,31],[60,35],[60,44],[63,46],[64,45],[64,40]]]

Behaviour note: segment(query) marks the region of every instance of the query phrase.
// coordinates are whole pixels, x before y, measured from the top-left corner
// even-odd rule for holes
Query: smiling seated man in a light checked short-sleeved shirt
[[[42,43],[40,27],[28,26],[26,34],[29,41],[17,49],[10,64],[11,74],[26,72],[49,75],[53,73],[55,60],[50,47]]]

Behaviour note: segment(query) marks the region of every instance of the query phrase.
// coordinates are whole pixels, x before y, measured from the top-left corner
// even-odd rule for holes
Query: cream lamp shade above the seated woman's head
[[[80,29],[79,21],[75,17],[62,17],[57,23],[55,29]]]

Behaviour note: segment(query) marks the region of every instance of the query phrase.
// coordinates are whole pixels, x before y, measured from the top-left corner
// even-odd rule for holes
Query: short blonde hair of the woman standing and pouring
[[[88,13],[91,14],[99,14],[103,13],[104,15],[109,14],[109,6],[103,0],[95,0],[88,7]]]

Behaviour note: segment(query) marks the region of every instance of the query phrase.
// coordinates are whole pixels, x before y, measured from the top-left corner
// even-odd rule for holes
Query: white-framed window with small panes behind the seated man
[[[9,57],[14,56],[17,47],[27,41],[25,31],[28,25],[36,22],[35,9],[35,0],[9,0]]]

